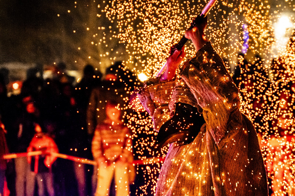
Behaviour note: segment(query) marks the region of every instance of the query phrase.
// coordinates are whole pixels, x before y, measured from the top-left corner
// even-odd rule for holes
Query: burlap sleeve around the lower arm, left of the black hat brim
[[[146,86],[138,93],[143,107],[153,119],[156,131],[159,131],[160,127],[170,119],[169,102],[175,83],[175,80],[157,82]]]

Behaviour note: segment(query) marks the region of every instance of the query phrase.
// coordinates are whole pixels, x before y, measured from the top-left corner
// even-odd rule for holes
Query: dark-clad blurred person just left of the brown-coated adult
[[[76,109],[78,118],[78,127],[74,129],[70,136],[70,155],[92,159],[91,140],[87,135],[86,111],[89,103],[90,94],[93,88],[100,84],[102,74],[96,72],[92,65],[88,64],[84,67],[83,77],[75,87]],[[77,150],[76,150],[77,149]],[[92,169],[88,165],[74,162],[74,172],[78,184],[78,195],[86,195],[86,170]],[[92,174],[92,172],[91,172]]]

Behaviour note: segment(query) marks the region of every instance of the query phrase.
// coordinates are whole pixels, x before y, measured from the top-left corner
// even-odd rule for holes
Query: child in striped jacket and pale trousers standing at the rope
[[[95,196],[105,196],[115,175],[116,195],[129,195],[129,164],[133,161],[129,129],[123,125],[116,101],[106,104],[106,120],[95,129],[92,154],[98,165]]]

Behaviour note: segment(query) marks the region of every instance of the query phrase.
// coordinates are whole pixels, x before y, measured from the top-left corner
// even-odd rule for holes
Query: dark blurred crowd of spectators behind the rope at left
[[[109,161],[111,155],[110,157],[96,155],[107,150],[106,146],[104,149],[99,149],[100,151],[91,152],[95,128],[106,123],[104,121],[110,116],[105,112],[107,107],[114,114],[118,114],[116,120],[120,127],[116,127],[115,133],[121,134],[124,129],[124,134],[123,136],[122,134],[116,136],[115,133],[105,134],[100,135],[99,139],[108,140],[109,146],[115,146],[118,142],[112,145],[112,139],[117,140],[115,137],[120,137],[123,141],[126,135],[130,136],[129,130],[126,131],[121,124],[124,124],[122,111],[126,111],[128,105],[127,91],[133,90],[134,82],[137,80],[134,74],[128,69],[123,69],[121,62],[108,67],[104,76],[93,66],[86,65],[82,79],[73,85],[73,77],[68,76],[63,67],[64,64],[57,66],[53,77],[46,80],[32,74],[23,82],[20,94],[10,97],[7,96],[4,77],[0,77],[0,119],[3,125],[1,136],[3,139],[5,131],[7,141],[7,144],[3,144],[6,147],[2,148],[5,151],[1,152],[1,155],[8,152],[45,150],[91,160],[94,153],[95,161],[98,161],[98,158],[100,160],[108,158],[106,161]],[[107,103],[112,105],[107,106]],[[5,141],[2,139],[1,141]],[[103,143],[103,141],[97,142]],[[125,145],[126,142],[128,146]],[[132,141],[128,138],[126,142],[119,145],[130,151]],[[114,149],[116,148],[111,152],[114,152]],[[132,151],[129,153],[126,156],[126,152],[122,154],[117,152],[113,156],[121,156],[130,164],[133,160]],[[37,174],[34,168],[35,161],[39,162]],[[111,161],[118,162],[112,159]],[[97,166],[93,168],[79,162],[56,160],[54,156],[40,156],[39,160],[35,160],[34,156],[18,157],[9,160],[7,166],[6,161],[1,160],[0,169],[1,178],[6,174],[10,195],[92,195],[97,185]],[[131,168],[129,173],[135,172],[132,169],[134,170]],[[112,183],[111,188],[107,187],[107,190],[113,191],[116,180],[112,181],[112,173],[108,175],[109,184]],[[132,175],[134,180],[134,174]],[[114,195],[112,191],[111,194]]]

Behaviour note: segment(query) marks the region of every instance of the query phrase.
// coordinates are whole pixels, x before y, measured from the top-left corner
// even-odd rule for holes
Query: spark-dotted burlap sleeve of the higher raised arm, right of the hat
[[[239,108],[238,88],[210,43],[184,64],[180,76],[203,109],[206,128],[218,145],[226,133],[230,113]]]

